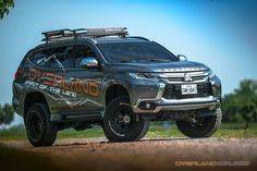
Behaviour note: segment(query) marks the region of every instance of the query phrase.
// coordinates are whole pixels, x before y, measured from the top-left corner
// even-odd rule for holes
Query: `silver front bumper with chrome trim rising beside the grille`
[[[160,111],[183,111],[183,110],[197,110],[197,109],[213,110],[220,108],[221,105],[220,80],[215,75],[213,77],[206,80],[204,82],[210,83],[212,91],[211,95],[206,97],[194,97],[194,98],[182,98],[182,99],[163,98],[163,93],[167,83],[159,82],[158,83],[159,89],[157,96],[154,98],[138,99],[135,103],[133,103],[133,111],[135,113],[158,113]]]

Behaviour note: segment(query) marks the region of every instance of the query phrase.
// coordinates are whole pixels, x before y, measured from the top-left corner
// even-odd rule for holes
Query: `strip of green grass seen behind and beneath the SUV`
[[[58,133],[58,138],[86,138],[86,137],[103,137],[103,132],[100,127],[95,126],[86,131],[75,131],[68,129]],[[149,132],[146,135],[150,138],[160,137],[185,137],[171,122],[170,126],[162,126],[160,122],[152,123]],[[221,127],[212,137],[223,138],[257,138],[257,123],[252,123],[247,130],[244,129],[244,123],[222,123]],[[0,139],[26,139],[26,133],[23,125],[13,126],[8,130],[0,131]]]

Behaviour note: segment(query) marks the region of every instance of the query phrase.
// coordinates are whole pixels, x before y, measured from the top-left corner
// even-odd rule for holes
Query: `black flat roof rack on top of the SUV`
[[[56,41],[63,39],[76,39],[83,37],[98,38],[105,36],[125,37],[128,35],[126,27],[110,27],[110,28],[77,28],[77,29],[58,29],[41,33],[45,38],[42,41]]]

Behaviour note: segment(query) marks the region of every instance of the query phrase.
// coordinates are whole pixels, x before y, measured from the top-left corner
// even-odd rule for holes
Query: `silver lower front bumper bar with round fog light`
[[[145,107],[144,107],[145,106]],[[147,107],[148,106],[148,109]],[[213,110],[220,107],[220,99],[213,96],[187,99],[164,99],[160,98],[157,101],[144,101],[138,106],[133,107],[135,113],[158,113],[160,111],[174,110],[196,110],[209,109]]]

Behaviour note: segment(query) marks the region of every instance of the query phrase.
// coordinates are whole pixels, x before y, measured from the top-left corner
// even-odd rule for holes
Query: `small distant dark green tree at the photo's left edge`
[[[11,105],[0,105],[0,125],[10,124],[14,119],[14,109]]]

